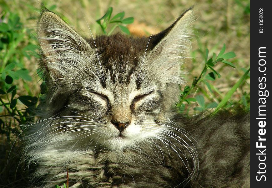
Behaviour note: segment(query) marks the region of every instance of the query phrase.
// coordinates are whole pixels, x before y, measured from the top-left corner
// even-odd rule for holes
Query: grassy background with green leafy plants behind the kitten
[[[80,34],[90,36],[89,28],[94,35],[118,30],[129,34],[131,30],[126,26],[131,23],[133,27],[143,27],[145,33],[148,29],[148,33],[162,30],[196,2],[69,0],[43,3]],[[198,19],[194,22],[192,50],[188,55],[192,58],[183,65],[183,70],[188,72],[184,75],[187,85],[181,86],[178,110],[193,115],[234,106],[249,108],[250,2],[216,0],[198,4],[201,9],[196,9]],[[0,0],[1,187],[28,184],[18,153],[22,126],[38,118],[35,111],[44,101],[45,84],[36,71],[39,47],[35,29],[40,10],[40,4],[34,0]]]

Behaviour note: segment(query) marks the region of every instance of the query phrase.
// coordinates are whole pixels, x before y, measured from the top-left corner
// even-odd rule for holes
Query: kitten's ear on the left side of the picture
[[[44,10],[38,21],[43,67],[51,78],[63,78],[94,50],[55,13]]]

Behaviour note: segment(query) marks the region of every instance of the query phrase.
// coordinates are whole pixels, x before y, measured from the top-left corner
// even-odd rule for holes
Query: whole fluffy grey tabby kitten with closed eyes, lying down
[[[180,62],[192,8],[151,37],[86,39],[56,14],[38,22],[48,84],[28,127],[33,185],[249,187],[249,114],[183,118]]]

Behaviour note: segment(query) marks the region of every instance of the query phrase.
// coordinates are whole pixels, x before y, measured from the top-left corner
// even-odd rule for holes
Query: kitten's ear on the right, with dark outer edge
[[[150,37],[146,54],[148,64],[169,75],[179,76],[180,60],[190,47],[190,24],[194,21],[193,7],[186,10],[164,31]],[[163,71],[165,70],[165,71]]]

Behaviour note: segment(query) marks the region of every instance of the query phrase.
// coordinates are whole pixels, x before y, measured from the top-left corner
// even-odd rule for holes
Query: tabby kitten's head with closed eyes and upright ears
[[[192,20],[188,9],[150,37],[114,34],[86,39],[56,14],[44,11],[38,39],[49,111],[55,117],[81,119],[67,123],[61,132],[84,135],[111,150],[156,138],[165,128],[165,114],[179,98],[180,64]]]

